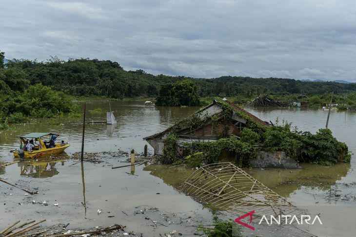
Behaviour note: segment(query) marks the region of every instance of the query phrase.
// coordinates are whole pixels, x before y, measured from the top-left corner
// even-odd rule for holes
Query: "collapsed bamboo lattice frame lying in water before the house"
[[[229,162],[202,166],[181,188],[200,202],[234,214],[246,213],[251,208],[258,216],[298,215],[303,212]]]

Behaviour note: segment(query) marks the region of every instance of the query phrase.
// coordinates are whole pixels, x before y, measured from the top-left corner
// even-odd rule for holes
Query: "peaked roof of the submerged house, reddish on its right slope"
[[[219,99],[219,100],[221,100],[221,99]],[[226,102],[227,104],[224,104],[224,103],[222,103],[222,101],[218,101],[217,99],[214,99],[213,103],[211,103],[211,104],[208,105],[208,106],[203,107],[202,109],[199,109],[199,110],[198,110],[197,112],[195,112],[194,114],[198,114],[198,113],[204,111],[205,109],[210,108],[211,106],[213,106],[213,105],[215,105],[215,104],[219,105],[221,108],[226,108],[226,107],[228,107],[228,106],[231,106],[233,109],[236,109],[236,110],[238,110],[239,112],[244,113],[246,116],[248,116],[249,118],[251,118],[251,120],[252,120],[253,122],[255,122],[255,123],[258,123],[258,124],[260,124],[260,125],[262,125],[262,126],[269,126],[269,125],[270,125],[269,123],[260,120],[260,119],[257,118],[255,115],[253,115],[253,114],[247,112],[245,109],[242,109],[242,108],[238,107],[237,105],[235,105],[234,103],[232,103],[232,102],[230,102],[230,101],[228,101],[228,100],[224,100],[223,102]],[[191,116],[193,116],[194,114],[192,114],[192,115],[186,117],[185,119],[179,121],[179,122],[176,123],[176,124],[181,124],[182,122],[188,120],[188,119],[189,119]],[[163,130],[163,131],[161,131],[161,132],[155,133],[155,134],[153,134],[153,135],[151,135],[151,136],[144,137],[143,139],[144,139],[144,140],[153,139],[153,138],[155,138],[155,137],[158,137],[158,136],[160,136],[160,135],[163,135],[164,133],[166,133],[166,132],[168,132],[169,130],[171,130],[171,128],[173,128],[173,127],[174,127],[174,126],[171,126],[171,127],[169,127],[169,128],[166,128],[165,130]],[[182,128],[182,129],[180,129],[180,130],[184,130],[184,129],[186,129],[186,128]]]

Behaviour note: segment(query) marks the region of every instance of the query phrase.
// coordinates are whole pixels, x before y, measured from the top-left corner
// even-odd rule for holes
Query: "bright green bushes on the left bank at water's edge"
[[[0,62],[3,62],[3,53]],[[7,123],[24,122],[27,116],[51,118],[63,112],[77,112],[69,96],[42,84],[31,85],[18,67],[0,64],[0,128]]]

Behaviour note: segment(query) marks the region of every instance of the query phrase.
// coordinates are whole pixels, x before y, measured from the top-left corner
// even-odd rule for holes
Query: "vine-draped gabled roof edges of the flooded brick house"
[[[188,120],[191,119],[193,116],[200,114],[202,111],[204,111],[204,110],[206,110],[206,109],[212,107],[213,105],[218,105],[218,106],[220,106],[220,107],[223,108],[223,109],[232,109],[235,113],[237,113],[237,115],[241,115],[241,116],[242,116],[243,118],[245,118],[246,120],[248,120],[248,121],[250,121],[250,122],[252,122],[252,123],[254,123],[254,124],[257,124],[257,125],[259,125],[259,126],[269,126],[269,125],[270,125],[269,123],[260,120],[260,119],[257,118],[255,115],[253,115],[253,114],[247,112],[245,109],[242,109],[242,108],[238,107],[237,105],[235,105],[234,103],[232,103],[232,102],[230,102],[230,101],[228,101],[228,100],[223,100],[223,99],[221,99],[221,98],[216,98],[216,99],[214,99],[214,100],[213,100],[213,103],[211,103],[211,104],[208,105],[208,106],[203,107],[202,109],[199,109],[199,110],[198,110],[197,112],[195,112],[194,114],[192,114],[192,115],[186,117],[185,119],[179,121],[178,123],[176,123],[176,125],[177,125],[177,124],[180,125],[180,124],[182,124],[182,123],[188,121]],[[153,139],[153,138],[155,138],[155,137],[158,137],[158,136],[160,136],[160,135],[163,135],[164,133],[166,133],[166,132],[172,130],[172,128],[174,128],[176,125],[173,125],[173,126],[167,128],[167,129],[165,129],[165,130],[163,130],[163,131],[161,131],[161,132],[155,133],[155,134],[153,134],[153,135],[151,135],[151,136],[144,137],[143,139],[144,139],[144,140],[148,140],[148,139]],[[181,128],[180,130],[184,130],[184,129],[186,129],[186,128]]]

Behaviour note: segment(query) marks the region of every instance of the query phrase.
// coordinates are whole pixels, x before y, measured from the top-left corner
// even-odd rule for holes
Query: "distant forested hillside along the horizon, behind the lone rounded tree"
[[[12,60],[6,64],[13,87],[41,83],[57,91],[83,96],[98,95],[112,98],[157,96],[161,85],[191,79],[198,85],[198,95],[253,97],[261,93],[306,95],[327,92],[348,93],[356,91],[356,83],[302,82],[285,78],[251,78],[221,76],[218,78],[188,78],[185,76],[152,75],[142,70],[125,71],[117,62],[98,59],[69,59],[61,61],[52,57],[46,62]],[[10,78],[8,78],[10,77]],[[17,81],[19,80],[19,81]]]

